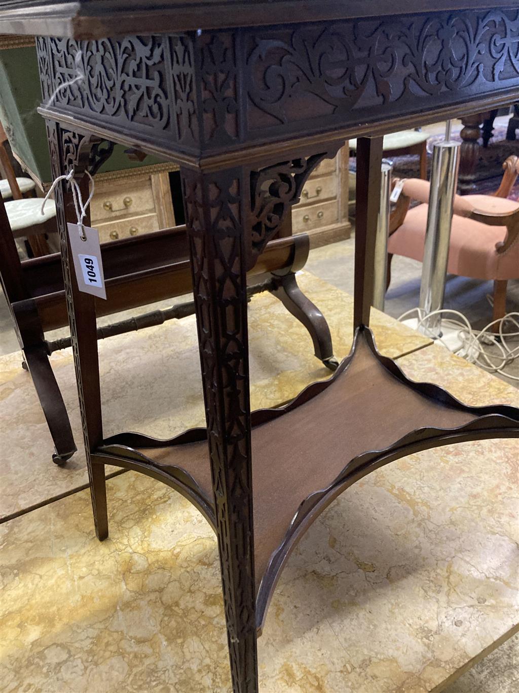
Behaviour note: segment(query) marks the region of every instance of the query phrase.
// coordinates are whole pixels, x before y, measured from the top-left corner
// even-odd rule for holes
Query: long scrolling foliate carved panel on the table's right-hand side
[[[249,30],[248,128],[323,123],[519,85],[519,10],[437,12]],[[428,98],[428,102],[421,102]],[[433,99],[432,102],[430,99]]]

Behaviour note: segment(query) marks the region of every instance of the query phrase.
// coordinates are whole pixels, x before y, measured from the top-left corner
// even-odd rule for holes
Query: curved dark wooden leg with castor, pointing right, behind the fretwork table
[[[286,310],[307,328],[313,342],[313,350],[317,358],[331,371],[334,371],[339,362],[334,356],[331,345],[331,334],[328,323],[319,308],[300,290],[295,274],[290,272],[283,276],[274,275],[277,287],[271,289],[277,299],[280,299]]]

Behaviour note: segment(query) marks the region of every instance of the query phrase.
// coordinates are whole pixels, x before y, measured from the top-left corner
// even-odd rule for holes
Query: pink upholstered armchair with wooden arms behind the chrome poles
[[[519,279],[519,202],[507,200],[519,173],[519,157],[508,157],[503,168],[493,195],[455,196],[447,266],[449,274],[493,280],[493,319],[506,313],[507,281]],[[411,199],[423,204],[409,209]],[[390,218],[388,286],[393,255],[424,258],[428,199],[427,181],[410,178],[403,184]]]

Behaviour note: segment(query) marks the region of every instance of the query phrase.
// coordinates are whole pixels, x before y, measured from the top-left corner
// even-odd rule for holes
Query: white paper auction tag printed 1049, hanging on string
[[[84,226],[83,231],[86,240],[83,240],[80,227],[77,224],[67,224],[67,227],[69,227],[70,247],[79,290],[85,294],[106,299],[107,292],[104,289],[101,248],[97,229]]]

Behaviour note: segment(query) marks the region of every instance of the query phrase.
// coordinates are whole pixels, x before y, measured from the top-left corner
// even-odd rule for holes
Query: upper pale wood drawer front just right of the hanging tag
[[[95,191],[90,209],[94,224],[155,211],[152,182],[147,178],[138,182],[118,182],[116,185],[102,186],[99,191]]]

